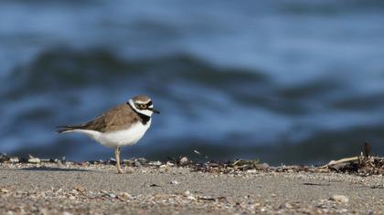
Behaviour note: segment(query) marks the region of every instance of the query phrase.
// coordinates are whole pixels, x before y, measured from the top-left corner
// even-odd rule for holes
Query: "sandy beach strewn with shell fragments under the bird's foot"
[[[134,166],[134,165],[133,165]],[[126,167],[0,163],[1,214],[381,214],[384,179],[311,169],[201,171],[171,162]]]

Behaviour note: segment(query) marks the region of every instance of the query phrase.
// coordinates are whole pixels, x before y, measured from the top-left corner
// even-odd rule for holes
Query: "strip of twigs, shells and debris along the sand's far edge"
[[[331,160],[324,166],[304,166],[304,165],[281,165],[278,167],[272,167],[267,163],[260,163],[258,159],[244,160],[236,159],[229,161],[215,161],[209,160],[205,162],[197,162],[187,157],[180,156],[177,159],[170,159],[166,162],[162,161],[148,161],[146,159],[123,159],[123,163],[127,167],[155,167],[159,168],[161,172],[168,171],[172,167],[187,167],[192,171],[201,171],[217,174],[258,174],[261,172],[340,172],[347,174],[356,174],[359,176],[369,175],[384,175],[384,158],[372,156],[369,152],[371,144],[368,142],[364,143],[364,153],[361,152],[360,156]],[[204,156],[199,151],[194,150],[197,155]],[[169,159],[169,158],[168,158]],[[85,161],[85,162],[72,162],[65,161],[63,157],[60,159],[38,159],[30,156],[29,158],[22,157],[9,157],[5,153],[0,154],[0,163],[57,163],[59,165],[78,165],[79,167],[90,166],[90,165],[115,165],[115,159],[108,160],[96,160],[96,161]],[[133,172],[133,169],[128,169],[128,172]],[[309,185],[309,184],[306,184]],[[319,185],[324,186],[324,185]]]

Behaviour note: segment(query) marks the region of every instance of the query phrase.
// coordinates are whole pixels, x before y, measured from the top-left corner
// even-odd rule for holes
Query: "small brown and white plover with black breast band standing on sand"
[[[120,167],[121,147],[132,146],[143,138],[151,126],[154,113],[160,114],[160,111],[154,108],[151,98],[139,95],[110,108],[91,121],[74,126],[59,126],[57,132],[85,134],[102,146],[114,148],[117,173],[123,173]]]

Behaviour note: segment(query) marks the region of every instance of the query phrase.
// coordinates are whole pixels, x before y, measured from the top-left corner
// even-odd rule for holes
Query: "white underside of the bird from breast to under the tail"
[[[132,146],[143,138],[146,130],[151,126],[150,119],[145,125],[141,122],[133,124],[130,128],[101,133],[94,130],[73,130],[88,135],[98,143],[106,147]]]

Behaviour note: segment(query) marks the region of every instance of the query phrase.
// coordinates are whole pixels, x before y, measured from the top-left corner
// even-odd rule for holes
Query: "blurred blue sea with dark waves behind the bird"
[[[0,151],[108,159],[55,127],[147,94],[124,157],[383,154],[383,23],[381,1],[1,1]]]

